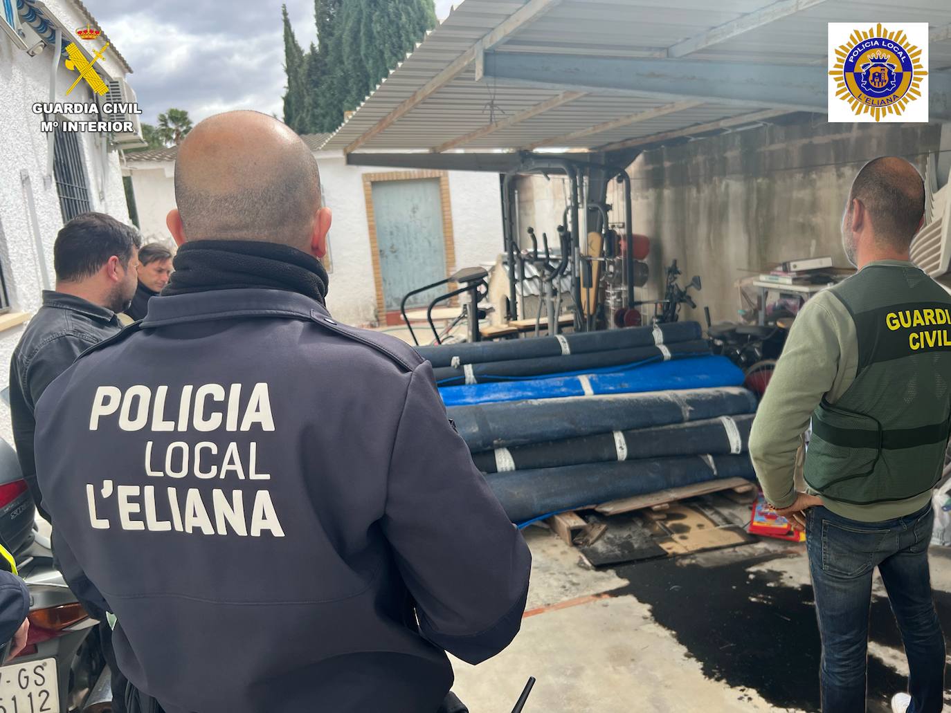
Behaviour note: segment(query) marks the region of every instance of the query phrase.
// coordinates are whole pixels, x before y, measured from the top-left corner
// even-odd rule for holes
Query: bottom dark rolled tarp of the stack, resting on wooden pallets
[[[720,478],[753,480],[749,456],[689,455],[498,472],[486,481],[515,523]]]

